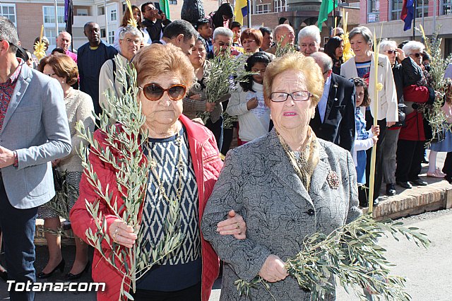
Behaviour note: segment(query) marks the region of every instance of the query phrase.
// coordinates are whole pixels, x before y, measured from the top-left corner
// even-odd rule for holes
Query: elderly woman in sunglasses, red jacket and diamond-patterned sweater
[[[219,261],[213,248],[203,239],[200,219],[222,161],[212,132],[182,115],[182,98],[194,82],[194,68],[186,55],[173,45],[144,47],[132,63],[136,66],[140,88],[136,98],[145,115],[143,158],[153,161],[148,173],[148,191],[143,199],[141,227],[150,245],[157,244],[165,232],[169,214],[167,200],[172,199],[181,207],[179,226],[183,233],[180,247],[143,275],[133,295],[135,300],[208,301],[218,276]],[[106,143],[101,131],[95,133],[95,138]],[[114,167],[100,162],[93,153],[90,164],[102,187],[109,184],[111,190],[116,189],[112,188],[117,187]],[[88,228],[95,230],[85,200],[93,203],[98,197],[83,175],[81,195],[71,211],[73,230],[81,237],[85,237]],[[133,247],[137,238],[133,229],[109,216],[112,214],[109,206],[101,204],[100,208],[107,217],[110,240]],[[246,227],[242,217],[227,210],[223,219],[218,225],[221,234],[244,238]],[[107,283],[107,290],[99,292],[97,300],[118,300],[121,277],[96,251],[93,280]]]

